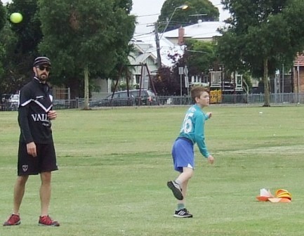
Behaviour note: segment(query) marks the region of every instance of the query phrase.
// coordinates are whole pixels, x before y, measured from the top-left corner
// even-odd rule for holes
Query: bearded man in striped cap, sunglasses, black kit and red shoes
[[[59,226],[48,216],[51,199],[51,171],[58,170],[51,130],[51,120],[57,117],[52,110],[53,97],[46,84],[51,62],[46,57],[34,60],[34,78],[20,90],[18,124],[20,140],[18,149],[18,178],[15,182],[13,214],[4,223],[20,225],[19,209],[25,193],[25,184],[30,175],[40,173],[41,216],[39,225]]]

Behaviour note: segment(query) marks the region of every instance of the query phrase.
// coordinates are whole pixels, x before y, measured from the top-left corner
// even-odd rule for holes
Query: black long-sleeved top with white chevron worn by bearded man
[[[53,107],[48,84],[34,77],[20,90],[18,123],[21,143],[53,143],[48,112]]]

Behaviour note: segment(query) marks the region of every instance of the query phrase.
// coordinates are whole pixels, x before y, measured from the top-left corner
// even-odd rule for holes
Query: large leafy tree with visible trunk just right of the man
[[[110,74],[127,57],[135,29],[131,5],[131,0],[39,1],[44,33],[39,49],[52,59],[55,76],[82,71],[86,110],[90,74]]]

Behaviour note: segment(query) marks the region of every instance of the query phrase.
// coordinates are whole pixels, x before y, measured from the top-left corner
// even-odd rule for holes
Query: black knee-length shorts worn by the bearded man
[[[58,170],[53,143],[36,143],[37,157],[27,154],[27,144],[19,143],[18,176],[37,175]]]

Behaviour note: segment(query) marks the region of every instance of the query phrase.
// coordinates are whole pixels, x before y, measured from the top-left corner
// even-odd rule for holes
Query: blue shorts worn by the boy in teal
[[[183,172],[183,167],[194,169],[194,148],[191,140],[178,138],[172,147],[173,166],[176,171]]]

